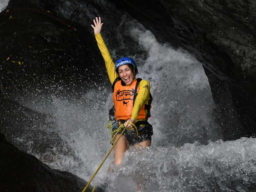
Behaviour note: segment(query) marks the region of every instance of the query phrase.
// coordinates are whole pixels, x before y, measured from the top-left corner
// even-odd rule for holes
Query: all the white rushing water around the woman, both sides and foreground
[[[150,31],[130,22],[129,36],[147,52],[133,57],[138,77],[151,83],[153,95],[152,146],[130,148],[120,169],[111,166],[113,153],[92,184],[108,180],[107,191],[256,191],[256,140],[241,138],[223,142],[215,123],[215,104],[202,65],[183,49],[159,44]],[[95,85],[97,87],[97,84]],[[61,90],[61,88],[60,88]],[[80,99],[62,99],[43,93],[23,97],[20,103],[51,114],[56,132],[68,149],[56,146],[47,152],[33,152],[31,141],[21,140],[50,167],[70,171],[89,180],[111,148],[106,127],[112,105],[110,90],[97,87]],[[70,95],[68,98],[72,98]],[[47,122],[42,122],[47,124]],[[66,146],[63,146],[65,148]],[[68,150],[72,150],[70,155]],[[54,157],[49,158],[51,154]]]

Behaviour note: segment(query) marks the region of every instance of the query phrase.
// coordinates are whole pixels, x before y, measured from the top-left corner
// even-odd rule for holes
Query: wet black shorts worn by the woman
[[[121,123],[124,123],[124,120],[119,120]],[[148,123],[148,121],[137,121],[135,123],[135,126],[138,129],[139,137],[137,137],[136,130],[128,130],[126,129],[124,131],[124,137],[127,138],[129,145],[134,145],[146,140],[151,141],[151,136],[153,135],[153,127],[151,124]],[[121,134],[122,131],[119,132]],[[113,145],[113,143],[112,143]]]

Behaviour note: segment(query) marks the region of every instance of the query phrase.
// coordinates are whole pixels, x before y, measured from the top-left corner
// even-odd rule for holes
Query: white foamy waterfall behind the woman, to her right
[[[215,124],[215,104],[202,64],[183,49],[160,44],[155,36],[132,21],[131,36],[148,52],[146,60],[133,55],[137,76],[151,83],[153,144],[180,146],[199,140],[222,139]]]

